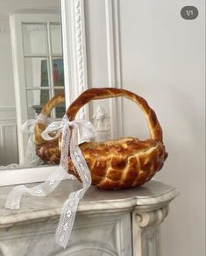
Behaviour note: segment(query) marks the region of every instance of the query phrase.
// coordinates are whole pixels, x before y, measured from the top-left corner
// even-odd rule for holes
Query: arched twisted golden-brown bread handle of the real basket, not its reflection
[[[70,121],[75,119],[75,116],[82,108],[83,105],[89,103],[92,100],[113,98],[118,96],[124,96],[131,101],[137,103],[141,110],[143,110],[147,124],[149,126],[151,139],[156,139],[162,141],[162,129],[155,112],[149,107],[146,100],[129,90],[117,89],[117,88],[92,88],[84,91],[80,96],[78,96],[67,109],[67,117]]]

